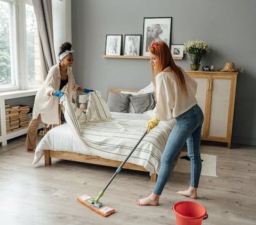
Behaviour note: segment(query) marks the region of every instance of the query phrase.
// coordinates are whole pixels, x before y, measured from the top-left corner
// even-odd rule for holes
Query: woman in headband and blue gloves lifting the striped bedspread
[[[71,46],[68,42],[60,46],[60,62],[51,67],[42,87],[37,91],[33,107],[33,119],[28,126],[25,144],[28,152],[34,152],[36,148],[37,128],[41,121],[55,126],[61,123],[59,99],[62,95],[66,94],[68,99],[71,99],[76,91],[86,94],[93,91],[83,89],[75,83],[71,70],[74,60],[74,51],[71,50]]]

